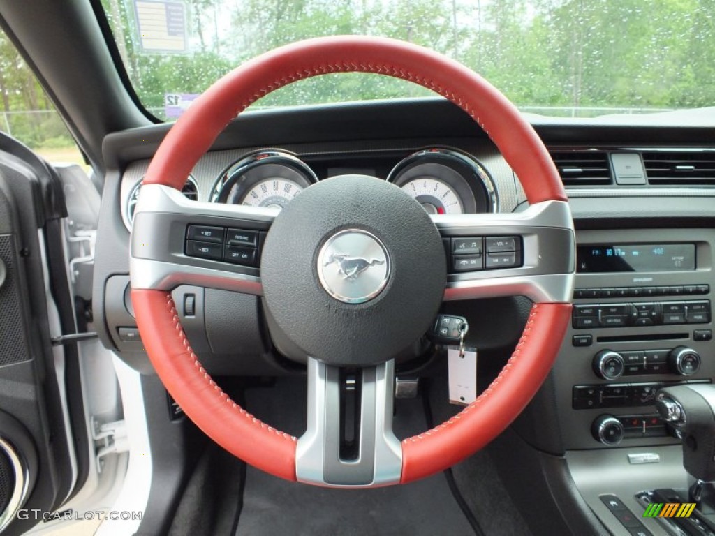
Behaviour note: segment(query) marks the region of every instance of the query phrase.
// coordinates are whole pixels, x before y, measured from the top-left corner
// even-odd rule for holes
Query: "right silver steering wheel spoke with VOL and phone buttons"
[[[436,215],[432,219],[448,249],[445,300],[526,296],[539,303],[571,301],[576,247],[568,203],[546,201],[512,214]],[[489,244],[500,237],[506,239],[501,244],[505,251],[490,251]],[[470,240],[468,246],[481,244],[480,253],[463,254],[464,250],[457,249],[463,245],[458,241],[465,238],[476,241]],[[512,243],[514,247],[506,245]],[[468,264],[465,259],[476,268],[460,267],[458,263]]]

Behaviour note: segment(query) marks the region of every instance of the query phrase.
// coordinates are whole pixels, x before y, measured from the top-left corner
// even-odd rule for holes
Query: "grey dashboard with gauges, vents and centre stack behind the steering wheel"
[[[618,533],[622,527],[599,497],[634,497],[648,482],[647,463],[631,463],[626,455],[657,459],[672,476],[657,485],[682,484],[679,440],[657,417],[654,393],[715,377],[715,133],[674,125],[532,123],[566,185],[577,274],[571,327],[556,365],[513,429],[538,452],[564,457],[583,499]],[[128,298],[127,248],[137,187],[166,131],[163,125],[136,129],[104,144],[114,166],[100,215],[94,310],[102,316],[105,344],[144,372],[150,366]],[[441,101],[245,114],[197,163],[184,194],[282,209],[310,184],[343,174],[393,182],[430,214],[511,213],[527,206],[487,134]],[[275,337],[260,297],[191,285],[173,294],[210,373],[302,372],[282,359],[299,349]],[[468,317],[473,326],[468,344],[480,349],[480,389],[511,353],[530,307],[523,297],[445,303],[443,313]],[[398,356],[398,375],[434,374],[440,363],[420,342]],[[604,467],[610,467],[607,487]]]

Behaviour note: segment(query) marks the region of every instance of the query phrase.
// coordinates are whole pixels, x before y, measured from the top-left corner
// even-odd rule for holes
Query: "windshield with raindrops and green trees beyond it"
[[[715,105],[711,0],[102,0],[142,104],[173,120],[252,56],[300,39],[389,36],[485,76],[521,110],[646,114]],[[254,106],[429,96],[405,81],[332,74]]]

